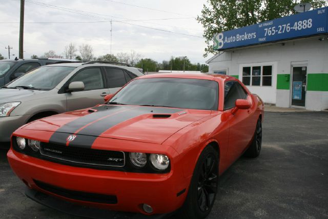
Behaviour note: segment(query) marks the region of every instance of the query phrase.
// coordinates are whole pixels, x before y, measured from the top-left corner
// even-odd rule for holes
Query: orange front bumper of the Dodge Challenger
[[[173,212],[185,201],[190,180],[182,177],[178,169],[165,174],[130,173],[95,170],[52,163],[30,157],[12,149],[8,161],[16,175],[30,189],[61,198],[71,203],[110,209],[140,212],[142,204],[152,206],[152,214]],[[116,204],[74,200],[39,188],[35,181],[55,187],[84,193],[115,195]],[[182,192],[183,191],[183,192]]]

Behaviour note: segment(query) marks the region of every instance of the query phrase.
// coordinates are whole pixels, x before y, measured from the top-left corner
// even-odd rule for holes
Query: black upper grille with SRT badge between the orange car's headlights
[[[60,161],[104,167],[124,167],[125,153],[122,151],[97,150],[41,143],[40,153]]]

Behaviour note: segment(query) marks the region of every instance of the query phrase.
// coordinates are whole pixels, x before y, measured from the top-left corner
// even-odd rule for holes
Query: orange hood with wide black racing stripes
[[[54,132],[50,143],[70,146],[90,147],[98,137],[162,144],[210,114],[210,110],[100,105],[43,118],[22,128]],[[75,136],[71,142],[70,135]]]

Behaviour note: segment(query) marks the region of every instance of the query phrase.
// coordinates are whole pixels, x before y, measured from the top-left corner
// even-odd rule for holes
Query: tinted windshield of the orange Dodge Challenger
[[[136,79],[108,104],[217,110],[218,83],[188,78]]]

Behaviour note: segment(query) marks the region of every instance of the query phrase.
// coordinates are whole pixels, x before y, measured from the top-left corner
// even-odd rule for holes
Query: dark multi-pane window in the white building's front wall
[[[246,86],[272,86],[272,66],[243,67],[242,83]]]

